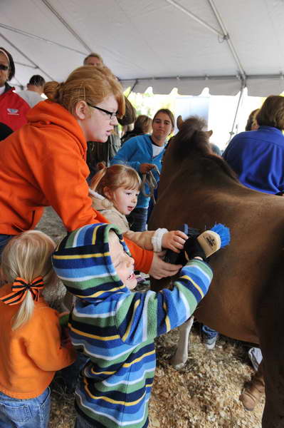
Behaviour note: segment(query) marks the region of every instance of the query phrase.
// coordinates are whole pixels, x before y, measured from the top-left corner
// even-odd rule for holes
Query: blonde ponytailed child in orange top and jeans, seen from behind
[[[51,265],[55,244],[30,230],[4,248],[0,289],[0,421],[5,428],[47,428],[50,389],[56,370],[74,361],[63,347],[56,299],[58,280]],[[2,425],[1,425],[2,426]]]

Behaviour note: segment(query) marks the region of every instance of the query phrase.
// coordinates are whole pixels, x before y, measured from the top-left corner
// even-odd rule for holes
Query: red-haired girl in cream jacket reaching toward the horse
[[[121,164],[106,168],[103,163],[99,163],[98,168],[100,171],[93,177],[89,190],[93,208],[120,228],[126,238],[145,250],[159,252],[169,248],[179,253],[187,239],[180,230],[130,230],[126,215],[135,209],[141,188],[141,179],[136,170]]]

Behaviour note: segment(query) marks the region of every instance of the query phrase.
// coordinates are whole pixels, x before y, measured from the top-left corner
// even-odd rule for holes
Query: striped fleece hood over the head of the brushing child
[[[115,225],[95,223],[74,230],[52,255],[53,268],[67,290],[88,302],[105,300],[117,292],[130,292],[117,275],[110,257],[109,234],[113,230],[130,255]]]

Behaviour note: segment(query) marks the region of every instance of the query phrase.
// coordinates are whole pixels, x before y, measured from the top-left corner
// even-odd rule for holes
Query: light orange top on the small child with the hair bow
[[[11,292],[11,285],[0,296]],[[75,350],[61,346],[58,312],[39,297],[31,319],[11,330],[20,305],[0,302],[0,391],[18,399],[35,398],[51,383],[57,370],[72,364]],[[1,424],[0,424],[1,425]]]

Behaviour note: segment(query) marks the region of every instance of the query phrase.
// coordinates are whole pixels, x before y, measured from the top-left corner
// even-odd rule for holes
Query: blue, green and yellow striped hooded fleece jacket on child
[[[76,409],[98,428],[148,426],[156,357],[154,337],[182,325],[206,294],[209,265],[191,260],[172,290],[130,292],[115,272],[108,245],[114,225],[70,233],[53,267],[76,297],[69,327],[73,346],[90,357],[76,389]]]

